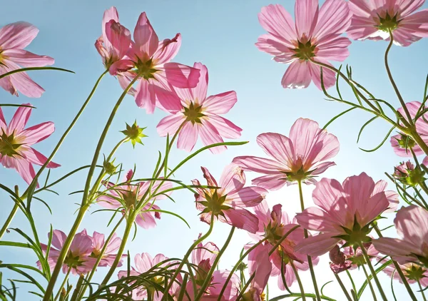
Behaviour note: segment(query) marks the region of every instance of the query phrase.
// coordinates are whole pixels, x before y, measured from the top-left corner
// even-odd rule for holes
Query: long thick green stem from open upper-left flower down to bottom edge
[[[89,208],[89,205],[88,205],[89,186],[91,185],[93,172],[95,171],[95,167],[96,167],[96,161],[98,160],[98,156],[101,152],[101,147],[103,146],[104,140],[106,139],[108,129],[110,128],[111,123],[113,122],[113,118],[116,115],[116,112],[118,111],[119,106],[121,106],[123,98],[125,98],[129,89],[131,88],[133,83],[136,82],[138,77],[139,76],[136,76],[133,79],[133,81],[131,81],[131,83],[129,83],[128,87],[126,87],[125,91],[123,91],[123,93],[121,94],[121,97],[118,99],[116,105],[113,108],[113,111],[111,111],[110,117],[108,118],[106,126],[104,127],[104,130],[103,130],[103,133],[101,134],[101,137],[98,141],[98,146],[96,147],[96,151],[93,154],[93,160],[91,163],[91,168],[89,169],[88,177],[86,178],[86,185],[85,185],[85,190],[83,192],[81,208],[78,211],[78,216],[77,216],[76,220],[74,221],[73,227],[71,228],[71,231],[68,234],[66,241],[64,242],[63,248],[61,249],[61,252],[58,256],[58,260],[56,261],[54,271],[52,272],[51,280],[49,280],[48,287],[46,287],[46,292],[45,292],[43,301],[48,301],[51,298],[52,291],[54,290],[54,285],[55,285],[56,279],[58,278],[58,274],[59,274],[61,267],[63,265],[63,262],[66,258],[66,255],[68,253],[68,249],[70,248],[71,242],[73,241],[73,238],[74,238],[74,235],[76,234],[78,226],[81,224],[81,221],[83,220],[83,217],[85,216],[86,210],[88,210],[88,208]]]

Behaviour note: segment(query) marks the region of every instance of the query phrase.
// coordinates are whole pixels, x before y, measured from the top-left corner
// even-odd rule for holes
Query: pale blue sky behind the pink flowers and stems
[[[57,71],[39,71],[31,73],[31,77],[46,89],[40,99],[29,99],[25,96],[15,98],[6,91],[0,91],[1,103],[31,102],[37,107],[33,111],[29,126],[44,121],[54,121],[56,132],[51,138],[39,143],[36,149],[49,155],[56,141],[65,131],[73,116],[91,91],[98,76],[103,72],[101,58],[93,44],[101,34],[101,19],[103,11],[114,5],[119,11],[121,23],[131,31],[142,11],[146,11],[160,39],[171,39],[177,32],[183,36],[183,43],[175,61],[193,65],[200,61],[208,66],[210,81],[209,94],[235,90],[238,103],[227,114],[227,118],[243,128],[240,141],[250,141],[245,146],[231,147],[228,151],[213,155],[209,152],[198,155],[197,158],[185,165],[177,173],[176,178],[189,183],[194,178],[203,179],[200,166],[207,167],[213,175],[219,177],[223,167],[230,163],[236,155],[262,155],[263,152],[255,143],[260,133],[277,132],[287,135],[290,126],[299,117],[311,118],[324,125],[340,111],[347,109],[339,103],[324,100],[324,95],[313,84],[304,90],[284,89],[280,85],[282,74],[287,66],[275,63],[270,55],[258,51],[254,46],[264,30],[258,24],[257,14],[262,6],[272,3],[265,0],[237,1],[9,1],[2,6],[1,26],[14,21],[28,21],[40,29],[39,36],[28,47],[34,53],[49,55],[56,59],[55,66],[68,68],[76,74],[60,73]],[[288,11],[294,11],[294,1],[282,0],[280,3]],[[424,8],[428,8],[424,4]],[[368,88],[375,96],[398,106],[394,91],[387,80],[383,65],[386,42],[354,41],[350,46],[350,57],[345,63],[353,67],[354,77]],[[392,73],[406,101],[422,99],[424,80],[427,75],[428,63],[424,52],[428,41],[422,40],[407,48],[394,46],[390,53]],[[338,66],[338,65],[336,65]],[[345,86],[344,86],[345,88]],[[346,89],[345,89],[346,90]],[[98,136],[100,135],[108,115],[121,94],[116,78],[106,76],[101,82],[91,103],[81,116],[73,131],[69,134],[54,161],[62,165],[52,170],[51,179],[56,179],[70,170],[91,162]],[[349,93],[345,93],[350,97]],[[13,113],[12,108],[4,108],[6,119]],[[138,177],[151,175],[151,170],[157,160],[158,150],[163,151],[165,139],[158,137],[156,125],[165,116],[162,111],[146,115],[145,111],[136,107],[133,98],[127,96],[123,106],[113,121],[111,131],[103,146],[103,153],[123,137],[119,131],[125,128],[125,123],[137,120],[140,126],[147,126],[144,140],[145,146],[132,148],[131,144],[123,146],[116,155],[116,162],[123,163],[125,169],[137,166]],[[389,126],[378,121],[372,123],[363,133],[360,143],[356,143],[357,134],[365,121],[372,118],[362,111],[352,111],[329,126],[328,131],[334,133],[340,141],[340,153],[335,158],[337,166],[325,173],[327,178],[337,178],[342,181],[347,176],[360,174],[365,171],[374,180],[385,179],[384,172],[392,172],[393,165],[400,158],[394,155],[389,143],[385,143],[375,153],[365,153],[361,148],[373,148],[382,141]],[[198,142],[196,148],[200,147]],[[178,163],[187,153],[173,149],[170,163]],[[248,183],[255,175],[248,173]],[[50,215],[43,205],[34,203],[33,214],[38,225],[41,238],[46,238],[49,227],[68,233],[74,220],[74,211],[81,200],[80,195],[68,195],[74,190],[81,190],[86,173],[74,175],[56,187],[59,196],[47,194],[46,200],[54,211]],[[26,185],[14,170],[1,168],[0,182],[9,187],[18,184],[21,190]],[[389,185],[392,189],[392,185]],[[313,186],[305,189],[305,203],[310,205]],[[191,228],[172,216],[163,215],[158,227],[151,230],[138,230],[136,240],[129,243],[131,256],[136,253],[149,252],[156,255],[163,252],[168,257],[182,257],[188,245],[197,238],[198,233],[207,230],[200,223],[195,210],[194,198],[191,193],[174,193],[176,203],[163,200],[158,205],[165,210],[173,210],[183,216]],[[0,193],[2,210],[0,221],[6,219],[12,202]],[[272,206],[281,203],[290,215],[299,211],[297,188],[290,186],[267,197]],[[91,212],[99,209],[93,205]],[[107,213],[88,213],[81,225],[89,233],[93,230],[106,232],[109,216]],[[391,220],[384,222],[389,225]],[[18,214],[11,227],[29,230],[26,220]],[[211,239],[219,246],[222,245],[230,228],[228,225],[216,224]],[[118,230],[121,235],[123,228]],[[394,232],[390,232],[394,235]],[[5,240],[18,240],[13,233],[4,236]],[[250,237],[243,231],[237,231],[230,250],[220,264],[222,268],[230,268],[238,259],[243,244],[250,242]],[[0,260],[4,262],[21,262],[34,265],[36,257],[26,250],[0,249]],[[316,268],[322,283],[332,280],[333,276],[327,265],[327,258]],[[98,279],[105,273],[105,268],[98,270]],[[362,282],[361,273],[355,271],[357,282]],[[15,277],[4,271],[4,277]],[[380,279],[389,292],[389,279],[381,274]],[[310,287],[309,274],[303,273],[305,287]],[[321,284],[322,284],[321,283]],[[270,297],[280,295],[275,289],[276,280],[270,285]],[[346,282],[348,285],[348,282]],[[399,300],[407,297],[405,290],[394,282]],[[358,286],[358,285],[357,285]],[[24,286],[23,286],[24,288]],[[297,285],[293,286],[297,291]],[[21,297],[26,295],[20,292]],[[328,285],[325,294],[343,300],[342,293],[336,285]],[[365,292],[365,298],[370,298],[370,291]],[[28,297],[30,300],[31,296]],[[404,298],[404,299],[403,299]],[[364,299],[367,300],[367,299]]]

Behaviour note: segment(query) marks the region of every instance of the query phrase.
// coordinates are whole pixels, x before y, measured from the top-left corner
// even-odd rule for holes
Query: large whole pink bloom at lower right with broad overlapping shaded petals
[[[320,232],[296,246],[297,252],[322,255],[341,240],[347,245],[367,243],[371,238],[370,225],[389,201],[382,183],[374,183],[365,173],[337,180],[323,178],[312,193],[315,205],[297,213],[297,223],[307,230]]]

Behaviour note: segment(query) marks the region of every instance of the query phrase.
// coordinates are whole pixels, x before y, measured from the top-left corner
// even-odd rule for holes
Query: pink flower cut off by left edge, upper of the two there
[[[22,67],[43,67],[54,64],[54,58],[38,56],[24,50],[39,34],[36,26],[26,22],[16,22],[0,29],[0,74]],[[18,91],[28,97],[40,97],[44,93],[26,72],[18,72],[0,79],[0,86],[12,95]]]

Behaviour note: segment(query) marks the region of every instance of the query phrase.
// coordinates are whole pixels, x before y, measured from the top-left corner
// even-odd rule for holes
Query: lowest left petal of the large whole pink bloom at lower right
[[[302,240],[302,243],[296,245],[295,251],[310,256],[320,256],[330,251],[339,241],[340,239],[331,238],[329,233],[318,234]]]

